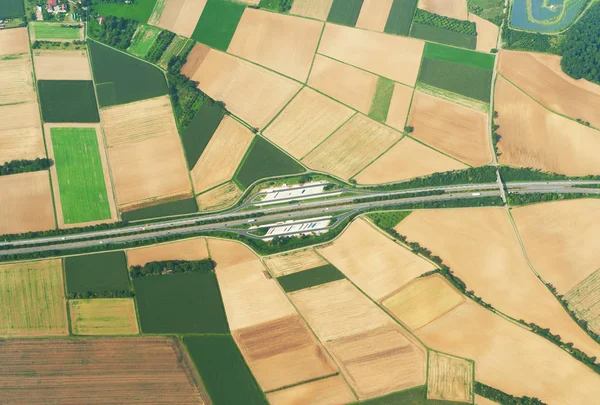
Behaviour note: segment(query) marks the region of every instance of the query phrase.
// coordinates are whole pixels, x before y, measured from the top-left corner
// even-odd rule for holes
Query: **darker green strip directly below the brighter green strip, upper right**
[[[419,82],[489,103],[492,72],[439,59],[423,58]]]

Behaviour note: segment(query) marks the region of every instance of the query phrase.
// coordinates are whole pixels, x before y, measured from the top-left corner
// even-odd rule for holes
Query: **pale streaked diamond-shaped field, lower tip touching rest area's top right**
[[[302,162],[311,169],[349,179],[394,144],[402,134],[356,114]]]

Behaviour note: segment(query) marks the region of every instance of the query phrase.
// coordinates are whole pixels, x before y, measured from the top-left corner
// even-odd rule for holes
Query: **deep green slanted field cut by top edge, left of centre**
[[[226,51],[246,6],[226,0],[208,0],[192,39]]]

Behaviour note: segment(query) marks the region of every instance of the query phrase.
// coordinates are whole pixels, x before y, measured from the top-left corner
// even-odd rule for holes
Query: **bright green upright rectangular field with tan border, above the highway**
[[[54,163],[65,224],[110,219],[94,128],[52,128]]]

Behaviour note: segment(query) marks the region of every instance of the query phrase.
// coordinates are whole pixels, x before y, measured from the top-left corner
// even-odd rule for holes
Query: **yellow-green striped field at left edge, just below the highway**
[[[0,285],[0,336],[68,335],[60,260],[0,265]]]

